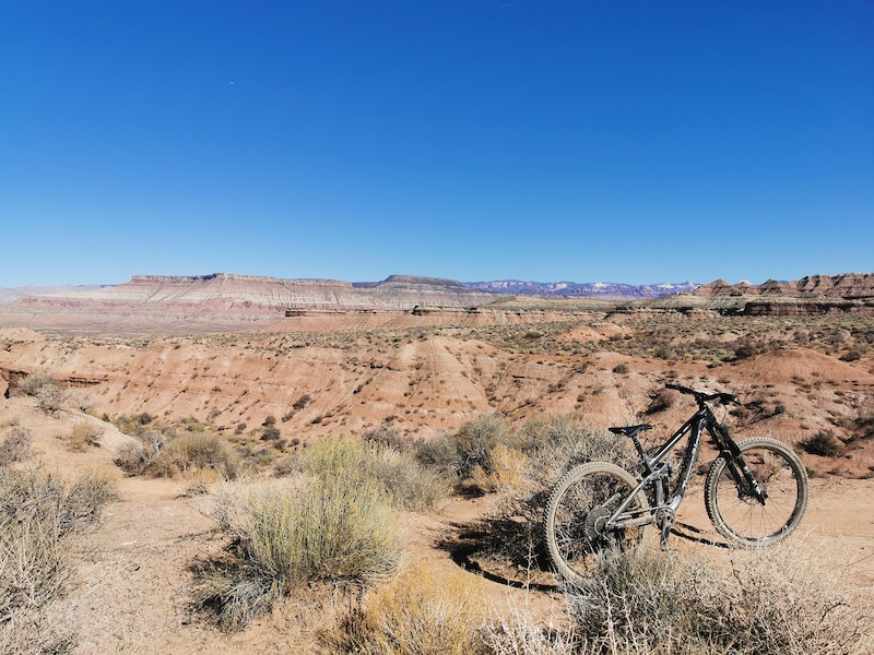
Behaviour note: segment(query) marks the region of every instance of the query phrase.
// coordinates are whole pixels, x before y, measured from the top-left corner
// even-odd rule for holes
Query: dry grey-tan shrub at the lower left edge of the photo
[[[0,653],[67,653],[72,633],[52,624],[52,605],[73,575],[71,541],[115,497],[105,476],[72,483],[0,469]]]

